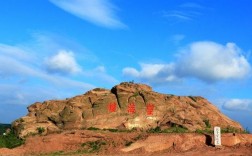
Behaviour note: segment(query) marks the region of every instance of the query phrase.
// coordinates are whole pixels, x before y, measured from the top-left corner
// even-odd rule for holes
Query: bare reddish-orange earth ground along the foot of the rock
[[[171,138],[170,140],[181,138],[184,140],[181,144],[174,145],[172,141],[169,141],[169,138]],[[198,138],[198,141],[192,138]],[[47,136],[31,136],[26,139],[24,145],[15,149],[1,148],[0,155],[252,156],[251,143],[216,148],[202,142],[201,140],[204,141],[204,138],[204,135],[190,133],[150,134],[72,130]],[[96,142],[99,145],[91,147],[91,145],[85,144],[87,142]],[[188,144],[184,144],[186,142]]]

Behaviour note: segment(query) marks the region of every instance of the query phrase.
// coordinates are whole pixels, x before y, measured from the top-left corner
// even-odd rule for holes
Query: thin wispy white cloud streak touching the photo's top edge
[[[50,0],[61,9],[108,28],[125,28],[115,15],[116,7],[109,0]]]

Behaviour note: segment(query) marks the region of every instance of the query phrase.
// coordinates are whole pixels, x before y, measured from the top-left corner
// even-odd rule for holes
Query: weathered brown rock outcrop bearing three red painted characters
[[[88,127],[161,129],[177,125],[190,131],[212,127],[241,129],[202,97],[160,94],[144,84],[121,83],[111,90],[96,88],[66,100],[34,103],[29,113],[12,123],[20,137]]]

